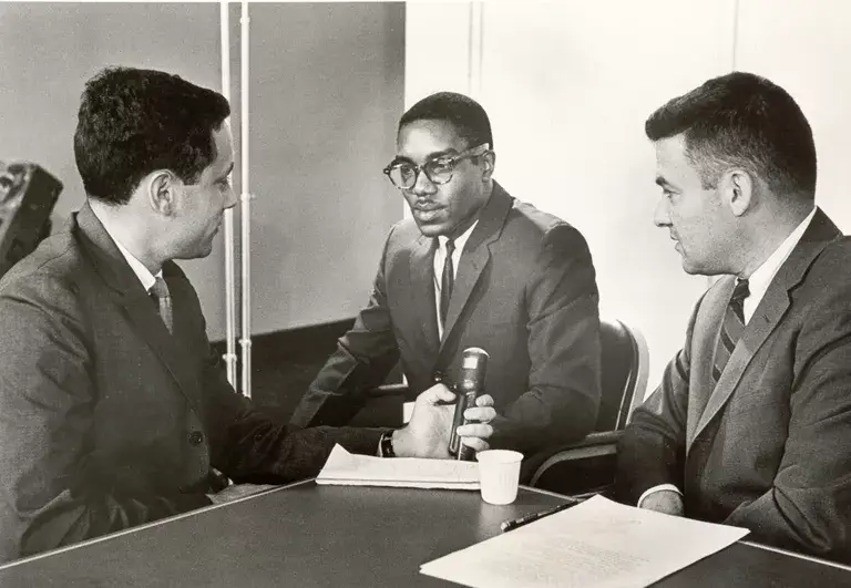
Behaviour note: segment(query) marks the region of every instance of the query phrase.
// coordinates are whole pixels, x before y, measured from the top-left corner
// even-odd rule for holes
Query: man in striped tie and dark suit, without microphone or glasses
[[[730,73],[646,123],[655,223],[724,276],[618,447],[623,501],[851,560],[851,243],[814,206],[794,100]]]

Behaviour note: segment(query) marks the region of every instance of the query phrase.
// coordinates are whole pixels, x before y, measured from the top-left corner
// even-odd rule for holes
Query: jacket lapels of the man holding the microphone
[[[168,332],[156,306],[139,281],[139,277],[127,265],[88,203],[76,213],[76,223],[84,237],[84,246],[92,265],[110,287],[115,305],[133,323],[142,340],[163,362],[193,409],[199,412],[197,381],[191,372],[191,362],[182,361],[185,357],[185,347],[180,343],[180,338]],[[177,319],[178,300],[183,299],[182,285],[180,280],[170,276],[170,272],[164,270],[163,274],[170,290],[174,286],[172,297],[175,307],[175,333],[180,334],[184,331],[181,329],[182,321]]]

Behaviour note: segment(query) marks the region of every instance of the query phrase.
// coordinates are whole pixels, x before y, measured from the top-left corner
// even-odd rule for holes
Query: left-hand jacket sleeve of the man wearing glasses
[[[385,266],[392,230],[385,245],[369,301],[352,328],[337,341],[290,420],[296,426],[345,425],[367,402],[367,391],[383,383],[399,361],[399,347],[387,303]]]

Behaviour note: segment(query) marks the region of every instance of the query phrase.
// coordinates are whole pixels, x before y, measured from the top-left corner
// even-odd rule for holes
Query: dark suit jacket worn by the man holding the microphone
[[[86,205],[0,281],[0,560],[209,504],[232,477],[315,475],[336,442],[288,432],[224,378],[195,290],[167,262],[174,336]]]

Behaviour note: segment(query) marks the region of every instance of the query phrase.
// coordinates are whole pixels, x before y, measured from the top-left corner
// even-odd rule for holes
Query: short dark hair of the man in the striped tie
[[[684,135],[704,188],[737,166],[778,195],[816,195],[816,144],[789,93],[765,78],[732,72],[670,100],[645,123],[650,141]]]

